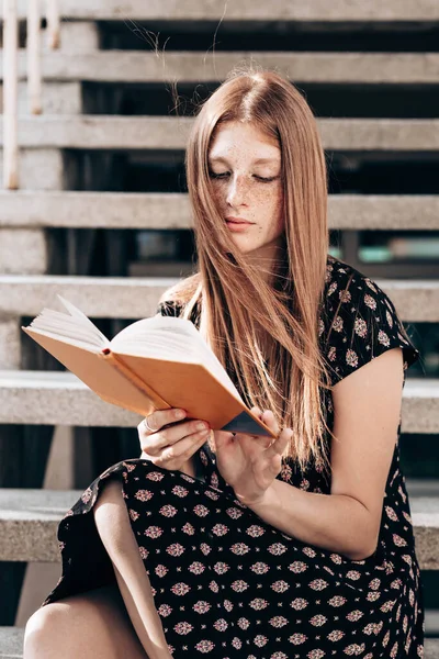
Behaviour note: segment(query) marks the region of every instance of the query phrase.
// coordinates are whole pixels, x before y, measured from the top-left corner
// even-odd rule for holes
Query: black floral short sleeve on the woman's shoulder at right
[[[345,270],[342,270],[345,272]],[[419,359],[392,300],[371,279],[354,271],[335,280],[328,289],[333,314],[328,314],[325,357],[333,387],[386,350],[401,347],[404,371]]]

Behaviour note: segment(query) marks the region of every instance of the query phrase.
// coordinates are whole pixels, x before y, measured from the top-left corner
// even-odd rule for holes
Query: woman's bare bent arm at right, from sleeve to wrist
[[[303,543],[351,560],[373,554],[397,439],[403,377],[402,349],[393,348],[333,388],[337,442],[331,446],[330,494],[275,480],[263,500],[249,507]]]

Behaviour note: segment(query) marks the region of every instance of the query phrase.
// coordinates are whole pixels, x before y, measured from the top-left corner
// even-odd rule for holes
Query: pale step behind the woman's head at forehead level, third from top
[[[81,149],[184,149],[190,116],[50,115],[19,118],[20,146]],[[0,145],[3,144],[0,118]],[[439,150],[439,119],[319,119],[334,150]]]

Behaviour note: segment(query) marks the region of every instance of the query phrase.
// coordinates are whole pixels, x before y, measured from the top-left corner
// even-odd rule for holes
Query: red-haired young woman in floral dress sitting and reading
[[[160,313],[192,320],[277,434],[157,410],[59,525],[63,576],[26,627],[44,657],[423,656],[398,435],[418,357],[379,286],[328,255],[313,113],[270,71],[202,107],[187,174],[198,272]]]

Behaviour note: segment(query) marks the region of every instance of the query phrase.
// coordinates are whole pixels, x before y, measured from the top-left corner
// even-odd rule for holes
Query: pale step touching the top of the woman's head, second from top
[[[437,53],[285,53],[193,52],[166,53],[161,58],[144,51],[97,51],[42,55],[45,80],[103,82],[222,81],[237,62],[256,58],[263,68],[283,71],[295,82],[317,83],[430,83],[439,81]],[[0,53],[0,71],[2,70]],[[26,54],[19,53],[19,77],[26,79]],[[2,74],[0,72],[0,79]]]

